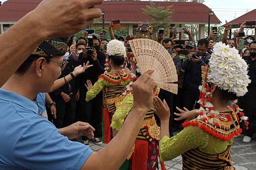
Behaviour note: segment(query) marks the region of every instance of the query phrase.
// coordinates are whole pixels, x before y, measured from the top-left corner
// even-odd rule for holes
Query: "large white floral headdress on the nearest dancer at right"
[[[207,82],[237,96],[243,96],[248,92],[247,86],[251,82],[247,68],[245,60],[240,57],[235,47],[230,48],[229,45],[218,42],[214,45],[210,58]]]

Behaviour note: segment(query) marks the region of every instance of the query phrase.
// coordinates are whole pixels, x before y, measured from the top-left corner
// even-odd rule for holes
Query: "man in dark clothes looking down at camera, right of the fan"
[[[185,70],[183,103],[188,110],[192,110],[194,105],[195,108],[199,108],[199,104],[196,101],[199,99],[199,86],[202,82],[201,66],[208,65],[211,57],[206,52],[208,45],[209,41],[207,39],[199,40],[196,52],[189,53],[182,63],[182,68]]]

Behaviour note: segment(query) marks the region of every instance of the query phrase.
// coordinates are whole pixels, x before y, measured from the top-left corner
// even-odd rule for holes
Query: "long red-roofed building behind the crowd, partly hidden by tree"
[[[0,25],[1,32],[4,32],[11,25],[25,16],[29,11],[37,7],[42,0],[8,0],[0,6]],[[170,6],[174,14],[170,17],[170,23],[180,24],[199,24],[200,37],[204,37],[204,25],[208,23],[208,14],[210,8],[202,3],[194,2],[154,2],[156,6]],[[153,21],[143,13],[143,8],[150,5],[148,1],[104,1],[98,7],[104,11],[105,28],[108,28],[111,20],[119,19],[122,25],[122,31],[125,34],[132,34],[133,28],[136,28],[138,22],[148,23]],[[213,15],[212,24],[220,24],[220,20]],[[95,22],[92,28],[100,30],[102,20]]]

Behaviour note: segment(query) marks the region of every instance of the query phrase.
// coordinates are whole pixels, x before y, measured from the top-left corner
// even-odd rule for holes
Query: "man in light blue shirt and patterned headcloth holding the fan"
[[[52,89],[65,67],[62,56],[66,50],[62,40],[46,39],[0,89],[0,169],[118,169],[132,150],[153,102],[157,86],[150,78],[153,71],[133,84],[133,108],[118,135],[103,149],[92,152],[68,139],[93,139],[93,127],[77,122],[56,129],[38,115],[38,106],[32,101],[39,92]],[[75,76],[71,73],[69,78]]]

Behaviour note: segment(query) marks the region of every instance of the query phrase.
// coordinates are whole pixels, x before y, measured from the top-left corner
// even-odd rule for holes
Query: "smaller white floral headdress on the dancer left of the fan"
[[[111,40],[107,44],[107,54],[109,56],[122,56],[126,57],[125,46],[121,41]]]

